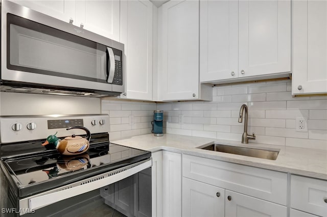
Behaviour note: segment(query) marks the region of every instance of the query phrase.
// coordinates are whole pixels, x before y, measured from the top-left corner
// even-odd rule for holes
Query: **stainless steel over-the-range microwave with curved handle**
[[[1,91],[124,92],[124,44],[6,0],[1,20]]]

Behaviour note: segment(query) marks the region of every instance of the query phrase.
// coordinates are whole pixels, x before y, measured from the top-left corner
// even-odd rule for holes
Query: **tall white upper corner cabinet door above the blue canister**
[[[199,97],[199,1],[162,5],[162,100]]]

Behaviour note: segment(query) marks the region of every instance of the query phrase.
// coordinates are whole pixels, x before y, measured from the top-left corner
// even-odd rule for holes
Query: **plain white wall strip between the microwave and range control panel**
[[[100,98],[0,93],[0,115],[73,115],[100,113]]]

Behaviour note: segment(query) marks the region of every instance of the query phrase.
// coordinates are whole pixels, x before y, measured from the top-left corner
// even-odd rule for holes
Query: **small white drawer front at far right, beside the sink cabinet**
[[[291,208],[327,216],[327,181],[292,175]]]

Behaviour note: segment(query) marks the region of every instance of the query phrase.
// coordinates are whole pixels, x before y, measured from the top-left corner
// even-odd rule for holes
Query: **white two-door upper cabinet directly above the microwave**
[[[24,0],[13,2],[65,22],[72,19],[74,25],[120,41],[120,1]]]

